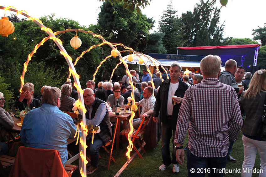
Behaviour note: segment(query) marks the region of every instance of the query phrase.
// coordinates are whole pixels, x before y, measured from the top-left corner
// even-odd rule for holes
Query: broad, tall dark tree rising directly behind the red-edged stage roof
[[[224,23],[219,24],[221,8],[214,7],[215,1],[200,1],[193,13],[183,13],[181,22],[184,25],[186,46],[220,45],[223,39]]]

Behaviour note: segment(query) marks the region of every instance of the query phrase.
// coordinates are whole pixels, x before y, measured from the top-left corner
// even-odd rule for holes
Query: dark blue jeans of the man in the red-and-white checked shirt
[[[217,169],[224,169],[226,166],[227,156],[225,157],[197,157],[190,150],[187,150],[187,169],[188,177],[205,177],[208,173],[210,177],[222,177],[222,173],[216,173]],[[194,173],[193,172],[194,169]],[[214,169],[216,169],[214,171]],[[208,171],[210,170],[210,171]],[[192,172],[191,172],[192,171]],[[218,171],[219,172],[219,171]]]

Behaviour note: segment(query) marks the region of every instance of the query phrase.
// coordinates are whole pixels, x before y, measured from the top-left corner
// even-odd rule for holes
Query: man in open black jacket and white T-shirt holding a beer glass
[[[170,79],[162,82],[160,89],[157,92],[156,102],[153,112],[153,121],[158,121],[159,111],[160,111],[160,122],[162,123],[162,165],[159,167],[161,171],[164,171],[171,163],[173,163],[173,172],[178,173],[179,167],[176,161],[175,144],[173,144],[172,161],[170,156],[170,139],[172,134],[175,135],[175,129],[177,124],[178,111],[181,106],[185,91],[188,89],[188,85],[184,83],[179,74],[181,67],[173,63],[170,66]],[[172,96],[175,95],[176,98],[173,99],[175,105],[172,104]]]

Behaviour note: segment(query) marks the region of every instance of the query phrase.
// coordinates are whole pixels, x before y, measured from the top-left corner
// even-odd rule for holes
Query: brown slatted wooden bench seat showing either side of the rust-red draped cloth
[[[15,162],[15,158],[14,157],[10,157],[7,155],[0,155],[0,172],[1,174],[3,174],[3,170],[7,167],[11,167],[14,162]],[[71,165],[71,164],[66,164],[65,165],[65,170],[67,172],[67,175],[69,177],[71,177],[72,173],[77,169],[77,165]]]

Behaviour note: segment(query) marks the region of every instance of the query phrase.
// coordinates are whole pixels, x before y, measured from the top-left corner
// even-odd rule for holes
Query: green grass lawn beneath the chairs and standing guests
[[[226,169],[241,169],[242,162],[244,159],[244,150],[243,150],[243,143],[242,143],[242,133],[238,134],[238,139],[235,142],[233,149],[232,149],[232,156],[237,159],[236,163],[227,161]],[[185,141],[187,142],[187,140]],[[123,144],[123,149],[118,149],[113,151],[113,157],[116,160],[116,163],[111,162],[110,169],[107,171],[105,167],[99,166],[99,168],[91,175],[88,176],[114,176],[119,169],[125,164],[127,158],[125,156],[127,144]],[[144,147],[145,148],[145,147]],[[185,162],[183,166],[180,166],[180,172],[178,174],[174,174],[172,171],[172,165],[170,165],[165,171],[160,171],[158,168],[162,164],[162,157],[161,157],[161,142],[159,142],[159,146],[153,150],[148,150],[147,154],[143,154],[143,159],[140,159],[138,156],[128,165],[128,167],[122,172],[122,177],[136,177],[136,176],[178,176],[178,177],[185,177],[187,176],[187,167],[186,167],[186,155],[185,155]],[[103,153],[101,153],[103,154]],[[132,155],[133,153],[131,153]],[[78,165],[78,162],[75,161]],[[101,163],[106,163],[105,160],[100,160]],[[260,157],[257,153],[255,166],[254,168],[260,168]],[[73,174],[73,177],[80,176],[79,170],[76,170]],[[207,174],[205,175],[207,176]],[[224,175],[226,177],[231,176],[241,176],[240,173],[232,173]],[[258,174],[253,174],[253,176],[258,176]]]

